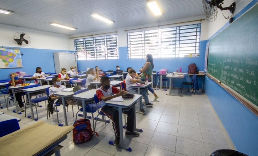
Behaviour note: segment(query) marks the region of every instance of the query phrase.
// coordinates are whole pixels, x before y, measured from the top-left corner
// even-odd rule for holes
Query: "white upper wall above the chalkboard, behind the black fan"
[[[235,12],[233,17],[240,12],[244,7],[246,7],[252,0],[227,0],[224,1],[222,7],[229,7],[233,2],[236,2]],[[228,10],[224,10],[223,14],[225,17],[231,15]],[[213,22],[208,22],[208,38],[210,38],[213,34],[215,34],[221,27],[223,27],[229,20],[225,19],[221,10],[218,8],[218,16],[217,19]]]

